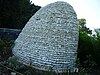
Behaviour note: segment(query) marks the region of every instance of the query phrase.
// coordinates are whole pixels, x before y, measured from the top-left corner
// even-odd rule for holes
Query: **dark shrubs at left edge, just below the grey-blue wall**
[[[12,46],[14,41],[0,39],[0,60],[6,60],[12,56]]]

